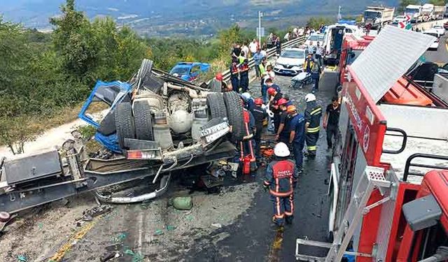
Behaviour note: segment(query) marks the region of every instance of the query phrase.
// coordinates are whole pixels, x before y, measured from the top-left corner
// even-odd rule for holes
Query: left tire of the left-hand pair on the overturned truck
[[[134,117],[132,117],[131,103],[119,103],[114,112],[118,145],[123,149],[125,138],[135,138]]]

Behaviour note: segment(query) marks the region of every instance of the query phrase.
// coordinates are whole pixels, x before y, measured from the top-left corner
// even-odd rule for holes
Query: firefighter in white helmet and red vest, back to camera
[[[298,170],[295,163],[288,159],[290,152],[285,143],[278,143],[274,147],[276,159],[266,168],[263,187],[269,189],[271,201],[274,203],[274,217],[272,221],[277,226],[293,222],[294,189],[297,184]]]

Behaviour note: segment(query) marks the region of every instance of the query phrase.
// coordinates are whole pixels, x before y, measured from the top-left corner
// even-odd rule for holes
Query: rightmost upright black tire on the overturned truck
[[[229,124],[232,126],[232,139],[242,140],[244,133],[243,105],[237,92],[224,92],[224,103]]]

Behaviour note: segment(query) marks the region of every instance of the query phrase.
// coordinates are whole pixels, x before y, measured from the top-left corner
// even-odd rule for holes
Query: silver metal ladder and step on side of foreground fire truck
[[[344,254],[372,257],[372,254],[347,252],[346,248],[349,246],[349,243],[353,238],[353,234],[355,233],[356,228],[358,228],[360,221],[362,221],[363,216],[372,208],[386,203],[390,199],[389,196],[384,196],[384,191],[388,187],[391,187],[391,182],[386,180],[384,177],[384,168],[366,166],[362,177],[360,177],[360,180],[356,185],[356,191],[351,198],[349,207],[344,214],[344,219],[342,219],[342,223],[339,226],[339,230],[335,234],[333,242],[318,242],[298,238],[296,240],[295,258],[298,261],[339,262]],[[367,201],[369,200],[374,189],[379,189],[384,198],[376,203],[367,205]],[[308,256],[299,254],[299,245],[324,247],[330,250],[325,257]]]

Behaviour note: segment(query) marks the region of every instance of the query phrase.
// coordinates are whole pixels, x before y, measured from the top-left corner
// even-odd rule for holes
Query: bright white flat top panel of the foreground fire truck
[[[381,104],[379,110],[387,119],[387,126],[402,129],[407,136],[445,140],[448,138],[448,109],[412,105]],[[416,124],[415,119],[418,119]]]

